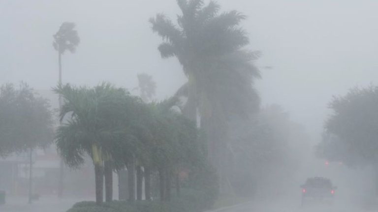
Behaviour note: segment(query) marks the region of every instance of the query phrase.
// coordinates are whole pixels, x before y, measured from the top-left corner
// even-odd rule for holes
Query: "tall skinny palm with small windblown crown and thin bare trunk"
[[[58,52],[58,65],[59,65],[59,84],[62,84],[62,55],[68,50],[71,53],[76,51],[76,47],[80,43],[77,30],[75,29],[75,23],[64,22],[59,28],[58,32],[53,35],[54,42],[53,47]],[[62,98],[59,97],[59,107],[62,107]],[[62,123],[61,123],[62,124]],[[58,196],[63,195],[63,160],[60,164],[59,174],[59,188]]]

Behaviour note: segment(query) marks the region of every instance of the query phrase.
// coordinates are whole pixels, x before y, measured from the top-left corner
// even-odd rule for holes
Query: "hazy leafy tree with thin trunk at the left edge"
[[[26,83],[0,87],[0,156],[29,152],[29,203],[32,202],[32,152],[53,141],[50,105]]]

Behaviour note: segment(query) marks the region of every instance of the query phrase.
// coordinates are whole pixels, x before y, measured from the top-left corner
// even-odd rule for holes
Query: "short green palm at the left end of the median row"
[[[67,124],[58,128],[58,150],[70,167],[81,165],[85,155],[92,158],[95,165],[96,203],[101,204],[104,164],[121,167],[128,155],[135,151],[135,139],[126,122],[134,114],[131,110],[136,108],[136,99],[130,97],[126,90],[109,84],[92,89],[58,85],[54,91],[64,99],[61,120],[70,117]],[[106,200],[111,201],[113,167],[105,169],[108,171],[105,173]]]

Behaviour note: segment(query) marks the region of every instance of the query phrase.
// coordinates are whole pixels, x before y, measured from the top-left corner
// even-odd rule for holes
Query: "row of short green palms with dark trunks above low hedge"
[[[125,167],[137,170],[137,198],[145,178],[146,199],[151,199],[150,175],[157,173],[160,200],[170,199],[173,175],[205,162],[195,124],[180,112],[178,99],[144,103],[125,89],[109,83],[95,87],[58,85],[54,92],[63,105],[56,144],[65,163],[77,168],[89,156],[95,166],[96,203],[112,201],[112,175]],[[143,168],[142,168],[143,167]],[[142,173],[144,170],[144,173]],[[187,169],[186,169],[187,170]],[[130,176],[133,176],[130,175]],[[129,178],[130,200],[134,182]]]

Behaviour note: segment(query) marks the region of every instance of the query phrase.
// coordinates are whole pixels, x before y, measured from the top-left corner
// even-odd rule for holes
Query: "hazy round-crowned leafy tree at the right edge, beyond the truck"
[[[329,104],[333,113],[326,121],[318,155],[350,167],[373,165],[378,170],[377,104],[378,87],[373,85],[333,97]]]

